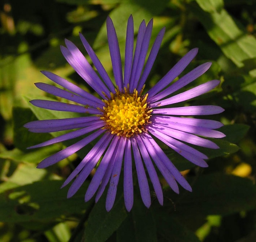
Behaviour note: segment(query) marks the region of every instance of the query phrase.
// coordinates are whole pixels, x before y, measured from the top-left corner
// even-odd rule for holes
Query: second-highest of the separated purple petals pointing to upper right
[[[156,94],[152,98],[149,98],[150,102],[156,102],[168,95],[170,95],[173,92],[176,92],[177,90],[181,89],[182,87],[188,85],[192,81],[194,81],[196,78],[200,77],[203,75],[212,65],[211,62],[206,62],[202,65],[199,65],[183,77],[181,77],[178,81],[173,83],[171,86],[165,88],[162,92]]]

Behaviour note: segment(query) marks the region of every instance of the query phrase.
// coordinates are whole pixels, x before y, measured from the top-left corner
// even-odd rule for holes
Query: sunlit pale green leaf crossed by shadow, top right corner
[[[194,4],[190,5],[190,10],[198,17],[208,35],[218,44],[227,58],[238,67],[243,66],[244,60],[256,57],[256,39],[239,28],[226,10],[208,13]]]

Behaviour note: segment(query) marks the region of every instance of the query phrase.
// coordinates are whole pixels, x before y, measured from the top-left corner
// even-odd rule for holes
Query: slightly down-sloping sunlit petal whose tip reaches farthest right
[[[153,115],[150,118],[150,121],[152,123],[157,123],[159,125],[169,127],[171,129],[177,129],[177,130],[180,130],[180,131],[184,131],[184,132],[191,133],[191,134],[198,134],[198,135],[202,135],[202,136],[205,136],[205,137],[210,137],[210,138],[223,138],[223,137],[225,137],[225,134],[223,134],[219,131],[216,131],[216,130],[197,127],[197,126],[192,126],[192,125],[187,125],[187,124],[182,124],[182,123],[178,123],[178,122],[173,122],[173,121],[168,120],[168,119],[162,119],[160,116],[154,116]]]

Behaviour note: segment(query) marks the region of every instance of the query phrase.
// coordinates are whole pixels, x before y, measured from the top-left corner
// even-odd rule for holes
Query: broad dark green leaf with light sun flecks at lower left
[[[62,216],[81,213],[89,206],[84,201],[87,182],[72,198],[67,199],[63,181],[38,181],[0,194],[0,221],[46,222]],[[74,206],[75,204],[75,206]]]

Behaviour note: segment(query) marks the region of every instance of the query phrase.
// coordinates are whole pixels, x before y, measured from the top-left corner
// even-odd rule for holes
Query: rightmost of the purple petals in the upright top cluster
[[[158,54],[158,51],[160,49],[160,46],[161,46],[161,43],[162,43],[162,40],[164,38],[164,33],[165,33],[165,28],[161,29],[161,31],[159,32],[158,36],[156,37],[156,40],[152,46],[152,49],[150,51],[150,54],[148,56],[148,61],[146,63],[146,66],[144,68],[144,71],[142,73],[142,76],[141,76],[141,79],[139,81],[139,85],[137,87],[137,90],[141,90],[143,85],[145,84],[146,82],[146,79],[148,78],[148,75],[152,69],[152,66],[156,60],[156,56]]]

